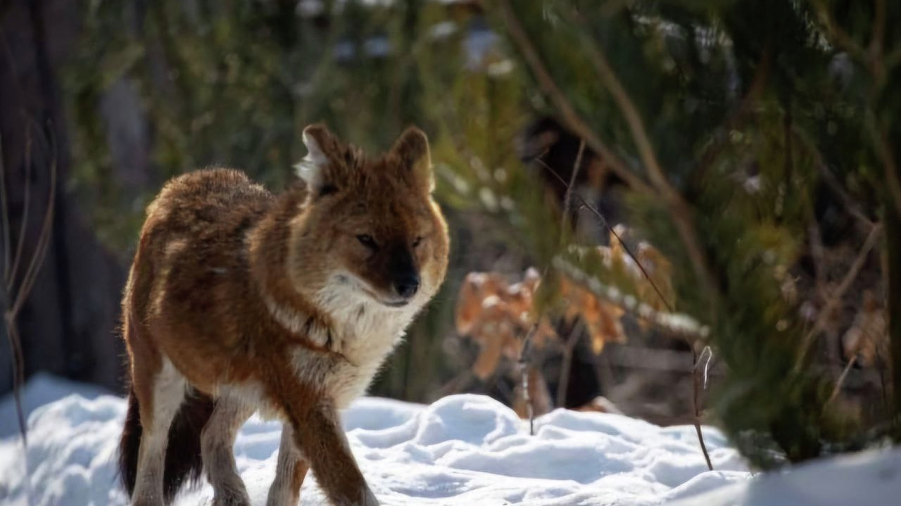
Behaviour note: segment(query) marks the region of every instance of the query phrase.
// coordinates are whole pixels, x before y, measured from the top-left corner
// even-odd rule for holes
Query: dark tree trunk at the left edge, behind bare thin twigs
[[[77,3],[10,0],[2,5],[2,176],[9,197],[11,257],[23,230],[20,273],[34,256],[48,209],[50,167],[56,164],[58,170],[50,246],[16,321],[25,371],[31,375],[42,370],[120,389],[123,346],[115,327],[124,269],[101,247],[66,193],[69,144],[57,71],[77,42]],[[13,300],[18,292],[16,284],[6,299]],[[11,366],[4,339],[0,392],[12,386]]]

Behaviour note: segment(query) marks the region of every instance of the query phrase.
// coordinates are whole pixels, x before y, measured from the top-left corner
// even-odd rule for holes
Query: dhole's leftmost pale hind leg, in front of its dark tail
[[[178,407],[185,399],[185,378],[168,359],[156,372],[134,365],[134,376],[145,388],[135,390],[141,411],[141,446],[138,450],[138,473],[132,493],[133,506],[164,504],[163,471],[166,463],[168,429]],[[147,383],[145,383],[147,382]]]

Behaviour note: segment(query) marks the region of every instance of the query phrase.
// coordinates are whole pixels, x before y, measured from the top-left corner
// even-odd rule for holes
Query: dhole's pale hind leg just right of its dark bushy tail
[[[234,438],[254,408],[229,396],[216,400],[200,437],[207,477],[213,485],[214,506],[250,506],[250,497],[234,464]]]

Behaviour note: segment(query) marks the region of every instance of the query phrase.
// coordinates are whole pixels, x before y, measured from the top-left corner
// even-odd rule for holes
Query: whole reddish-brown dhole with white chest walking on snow
[[[268,506],[296,504],[311,467],[333,504],[378,504],[338,410],[441,285],[447,226],[422,131],[378,158],[321,125],[304,142],[284,194],[214,168],[148,207],[123,297],[132,504],[168,504],[202,469],[214,504],[250,504],[232,445],[257,410],[284,422]]]

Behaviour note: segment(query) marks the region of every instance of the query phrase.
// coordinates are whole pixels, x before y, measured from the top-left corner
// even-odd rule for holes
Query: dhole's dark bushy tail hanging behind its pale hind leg
[[[214,401],[203,393],[189,393],[169,427],[166,467],[163,472],[163,495],[166,504],[185,484],[200,480],[204,463],[200,457],[200,433],[213,414]],[[138,451],[141,447],[141,412],[132,387],[128,393],[128,413],[119,442],[119,474],[122,484],[132,496],[138,477]]]

